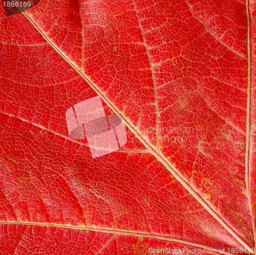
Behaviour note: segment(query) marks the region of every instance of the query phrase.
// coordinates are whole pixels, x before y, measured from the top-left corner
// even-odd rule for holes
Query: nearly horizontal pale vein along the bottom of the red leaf
[[[142,238],[152,238],[152,239],[157,239],[157,240],[163,240],[167,242],[175,242],[178,244],[183,244],[183,245],[189,245],[189,246],[195,246],[198,248],[202,249],[210,249],[210,250],[215,250],[215,248],[209,247],[209,246],[204,246],[204,245],[198,245],[196,243],[192,242],[187,242],[175,238],[169,238],[169,237],[164,237],[160,235],[154,235],[154,234],[146,234],[143,232],[139,231],[127,231],[127,230],[116,230],[116,229],[111,229],[111,228],[98,228],[98,227],[87,227],[87,226],[74,226],[74,225],[68,225],[68,224],[54,224],[54,223],[41,223],[41,222],[26,222],[26,221],[21,221],[21,222],[16,222],[16,221],[0,221],[0,224],[5,224],[5,225],[25,225],[25,226],[37,226],[37,227],[55,227],[55,228],[65,228],[65,229],[74,229],[74,230],[83,230],[83,231],[94,231],[94,232],[99,232],[99,233],[106,233],[106,234],[113,234],[115,236],[131,236],[131,237],[142,237]],[[218,254],[218,253],[214,253]],[[231,254],[228,252],[224,252],[222,254]],[[233,255],[233,254],[232,254]]]

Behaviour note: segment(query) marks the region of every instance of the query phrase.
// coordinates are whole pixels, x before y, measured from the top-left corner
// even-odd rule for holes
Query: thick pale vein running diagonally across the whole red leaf
[[[79,69],[79,67],[71,61],[64,52],[62,52],[53,41],[49,40],[49,38],[44,34],[40,28],[37,26],[37,24],[30,18],[30,16],[26,13],[22,13],[33,25],[33,27],[38,31],[38,33],[41,34],[41,36],[51,45],[51,47],[63,58],[67,61],[67,63],[70,64],[70,66],[81,76],[82,79],[84,79],[91,88],[100,96],[100,98],[105,102],[106,105],[108,105],[113,112],[115,112],[118,115],[122,115],[121,112],[119,112],[118,109],[115,108],[115,106],[104,97],[103,93],[97,88],[97,85],[91,81],[91,79],[86,75],[83,74],[82,71]],[[180,182],[180,184],[190,193],[191,196],[193,196],[202,206],[203,208],[214,218],[216,219],[219,224],[234,238],[236,239],[244,248],[247,250],[251,249],[239,236],[236,234],[236,232],[227,224],[225,223],[224,219],[215,211],[214,208],[212,208],[209,204],[207,204],[203,198],[197,193],[196,190],[194,190],[192,187],[189,186],[187,181],[183,178],[183,176],[172,166],[169,164],[169,162],[166,160],[166,158],[162,155],[160,152],[159,154],[156,151],[156,148],[149,144],[144,138],[137,132],[136,127],[129,122],[123,115],[122,118],[124,120],[125,125],[130,129],[130,131],[138,138],[138,140],[145,146],[145,148],[148,149],[148,151]]]

